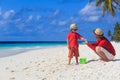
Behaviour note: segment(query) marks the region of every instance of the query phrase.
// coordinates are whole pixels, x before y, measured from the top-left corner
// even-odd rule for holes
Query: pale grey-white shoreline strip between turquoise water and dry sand
[[[55,46],[30,46],[30,47],[12,47],[12,48],[1,48],[0,49],[0,58],[14,56],[28,51],[48,49],[54,47],[62,47],[66,45],[55,45]]]

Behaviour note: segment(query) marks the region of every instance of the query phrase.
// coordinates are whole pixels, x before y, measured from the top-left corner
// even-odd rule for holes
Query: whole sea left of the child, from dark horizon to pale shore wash
[[[29,50],[54,46],[66,46],[66,41],[0,42],[0,58],[17,55]]]

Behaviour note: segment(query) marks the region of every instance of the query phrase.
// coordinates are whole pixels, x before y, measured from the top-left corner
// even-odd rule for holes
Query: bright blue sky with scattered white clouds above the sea
[[[72,23],[88,41],[93,29],[107,36],[120,23],[120,12],[102,17],[101,7],[89,0],[0,0],[0,41],[65,41]]]

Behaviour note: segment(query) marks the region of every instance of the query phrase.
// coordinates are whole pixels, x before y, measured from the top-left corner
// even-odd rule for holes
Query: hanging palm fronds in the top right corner
[[[90,0],[92,2],[93,0]],[[96,0],[96,7],[102,5],[102,16],[104,13],[110,12],[112,16],[115,15],[115,10],[120,11],[120,0]]]

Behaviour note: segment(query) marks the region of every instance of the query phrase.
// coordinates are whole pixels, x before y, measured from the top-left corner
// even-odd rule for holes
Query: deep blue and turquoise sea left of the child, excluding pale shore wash
[[[66,41],[41,41],[41,42],[0,42],[0,49],[11,49],[11,48],[41,48],[41,47],[52,47],[52,46],[64,46]]]

